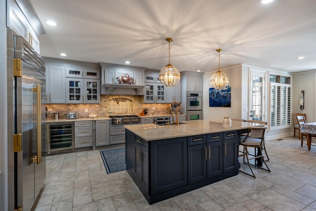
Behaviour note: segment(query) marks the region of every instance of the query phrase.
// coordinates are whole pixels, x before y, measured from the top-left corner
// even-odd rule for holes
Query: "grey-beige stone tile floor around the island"
[[[36,211],[316,211],[316,147],[266,141],[271,173],[237,176],[149,205],[126,171],[107,174],[98,150],[48,156]]]

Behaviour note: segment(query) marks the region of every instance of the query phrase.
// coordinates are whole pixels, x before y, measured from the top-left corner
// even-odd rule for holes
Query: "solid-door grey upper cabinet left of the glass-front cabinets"
[[[65,67],[49,64],[46,67],[46,103],[66,102]]]

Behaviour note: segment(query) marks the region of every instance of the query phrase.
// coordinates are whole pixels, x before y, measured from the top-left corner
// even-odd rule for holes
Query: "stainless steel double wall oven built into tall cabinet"
[[[202,93],[187,92],[187,120],[202,119]]]

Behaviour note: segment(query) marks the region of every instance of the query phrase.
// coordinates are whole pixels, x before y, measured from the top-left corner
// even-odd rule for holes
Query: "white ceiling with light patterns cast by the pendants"
[[[160,70],[172,37],[170,63],[180,71],[216,70],[217,48],[221,68],[316,70],[316,0],[30,1],[46,31],[42,56]]]

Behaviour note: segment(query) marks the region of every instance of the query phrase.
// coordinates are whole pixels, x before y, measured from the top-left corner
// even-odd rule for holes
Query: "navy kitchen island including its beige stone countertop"
[[[237,175],[240,133],[222,120],[125,126],[126,169],[149,204]]]

